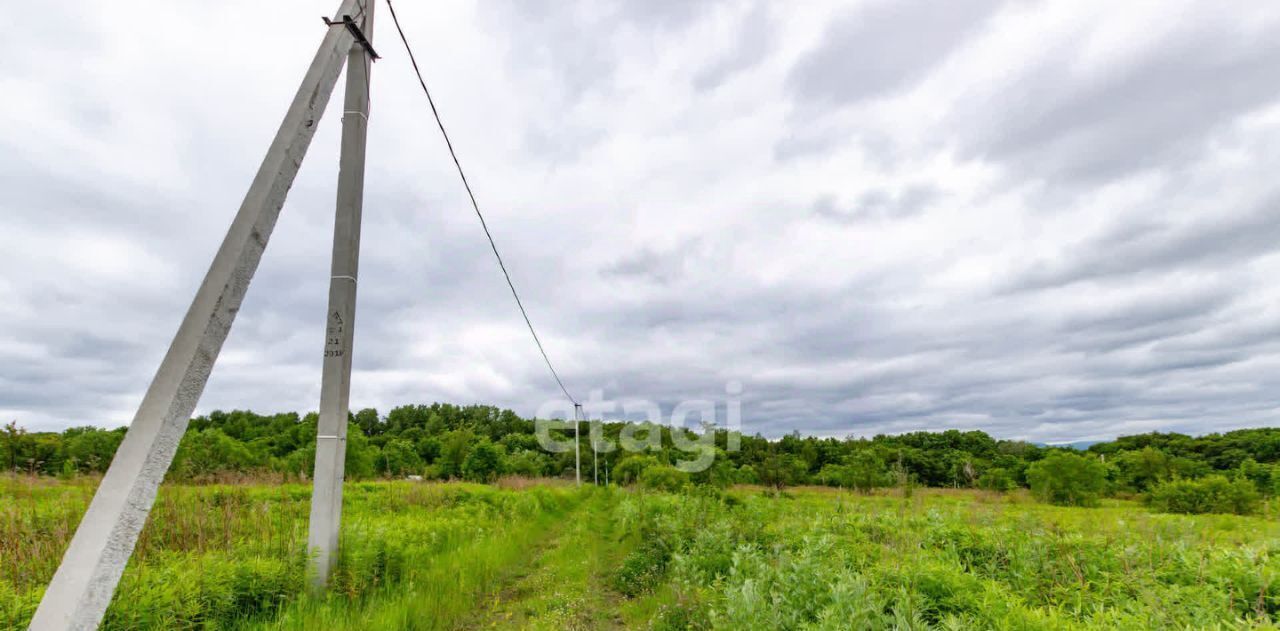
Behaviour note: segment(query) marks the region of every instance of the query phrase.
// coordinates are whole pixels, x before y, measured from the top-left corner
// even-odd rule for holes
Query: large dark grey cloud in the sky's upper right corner
[[[1029,67],[950,125],[973,156],[1053,180],[1176,165],[1236,115],[1280,97],[1280,29],[1197,19],[1134,61],[1082,73],[1073,50]],[[1189,32],[1188,32],[1189,31]]]

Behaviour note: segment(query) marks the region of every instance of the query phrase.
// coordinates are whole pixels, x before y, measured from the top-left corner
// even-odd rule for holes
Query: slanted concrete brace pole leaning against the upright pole
[[[338,17],[356,15],[343,0]],[[230,331],[353,41],[332,27],[151,380],[63,562],[32,617],[36,631],[97,628]]]

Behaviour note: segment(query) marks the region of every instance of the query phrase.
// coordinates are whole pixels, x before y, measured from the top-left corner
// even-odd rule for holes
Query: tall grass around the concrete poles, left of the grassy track
[[[0,480],[0,628],[26,626],[93,483]],[[410,593],[447,612],[476,602],[522,541],[577,502],[568,489],[348,484],[333,590],[312,600],[302,598],[310,494],[163,486],[102,628],[342,628],[369,603]]]

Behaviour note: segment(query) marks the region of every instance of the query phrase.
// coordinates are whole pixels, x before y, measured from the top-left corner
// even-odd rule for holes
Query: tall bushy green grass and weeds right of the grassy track
[[[666,628],[1271,628],[1280,525],[1059,508],[756,493],[630,499],[620,568]]]

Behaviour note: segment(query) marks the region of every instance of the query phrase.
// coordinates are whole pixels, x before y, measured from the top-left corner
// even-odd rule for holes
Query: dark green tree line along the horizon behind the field
[[[259,471],[306,479],[315,461],[316,419],[316,413],[248,411],[216,411],[192,419],[169,479],[201,480]],[[1069,504],[1089,504],[1103,495],[1142,495],[1158,503],[1157,489],[1166,495],[1199,498],[1172,500],[1171,507],[1166,506],[1170,509],[1184,508],[1181,503],[1188,502],[1230,503],[1221,499],[1224,494],[1263,498],[1280,491],[1280,429],[1203,436],[1149,433],[1097,443],[1085,451],[1001,440],[983,431],[914,431],[846,439],[792,433],[769,440],[760,435],[731,436],[719,430],[710,466],[685,472],[677,465],[690,459],[687,448],[694,434],[685,429],[631,425],[626,430],[626,422],[600,424],[602,443],[616,445],[626,430],[646,438],[645,452],[613,451],[600,453],[598,462],[593,462],[590,433],[582,424],[579,440],[585,480],[593,479],[598,466],[602,480],[655,488],[685,484],[776,488],[817,484],[863,491],[915,485],[996,491],[1030,488],[1046,500]],[[124,431],[86,426],[28,433],[10,422],[0,433],[0,462],[9,470],[40,475],[99,474],[110,463]],[[675,433],[685,433],[687,438],[678,442],[681,436]],[[572,433],[557,429],[552,434],[572,444]],[[728,449],[731,439],[740,448]],[[399,406],[387,415],[372,408],[352,413],[346,471],[352,479],[572,477],[573,458],[572,449],[545,451],[535,435],[534,421],[509,410],[433,403]],[[1169,498],[1164,502],[1170,504]]]

